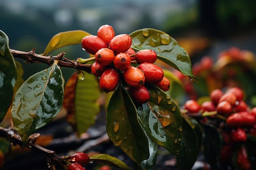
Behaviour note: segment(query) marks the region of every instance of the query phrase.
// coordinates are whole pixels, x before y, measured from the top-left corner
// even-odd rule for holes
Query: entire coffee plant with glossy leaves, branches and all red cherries
[[[44,155],[54,170],[83,170],[92,162],[132,169],[109,154],[58,155],[37,144],[37,130],[62,107],[78,138],[103,108],[109,139],[134,162],[134,169],[153,169],[159,147],[175,155],[179,170],[192,169],[200,152],[212,169],[254,169],[256,109],[243,101],[245,94],[238,87],[225,93],[216,89],[209,100],[179,106],[173,94],[182,82],[158,61],[189,81],[196,78],[188,53],[170,35],[148,28],[116,35],[112,26],[102,25],[97,35],[81,30],[56,34],[42,54],[10,49],[8,41],[0,31],[0,120],[9,114],[12,118],[11,127],[0,127],[1,162],[11,152],[1,148],[20,145]],[[70,60],[65,52],[49,55],[74,44],[81,44],[78,50],[84,50],[84,58]],[[49,68],[22,81],[15,58]],[[62,67],[75,70],[66,82]]]

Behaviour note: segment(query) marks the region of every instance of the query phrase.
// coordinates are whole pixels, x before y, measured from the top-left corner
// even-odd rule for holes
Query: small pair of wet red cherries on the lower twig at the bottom
[[[67,159],[71,162],[71,164],[68,165],[68,170],[85,170],[83,167],[90,162],[88,154],[82,152],[68,156]]]

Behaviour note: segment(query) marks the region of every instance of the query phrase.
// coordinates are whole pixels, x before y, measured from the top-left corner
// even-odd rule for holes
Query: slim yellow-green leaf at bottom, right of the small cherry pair
[[[110,156],[109,154],[96,154],[90,156],[90,160],[98,163],[115,166],[121,170],[131,170],[123,161],[119,160],[116,157]]]

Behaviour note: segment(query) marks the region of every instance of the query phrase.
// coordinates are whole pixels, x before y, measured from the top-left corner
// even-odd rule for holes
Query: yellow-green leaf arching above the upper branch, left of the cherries
[[[59,49],[64,46],[81,44],[82,38],[90,35],[89,33],[82,30],[66,31],[61,32],[52,37],[46,46],[42,55],[47,55],[50,51]]]

